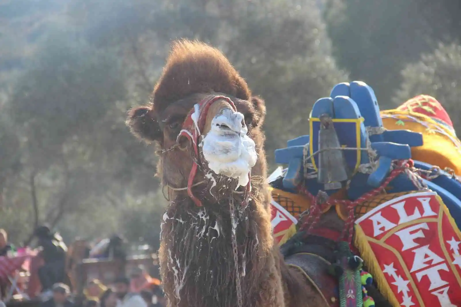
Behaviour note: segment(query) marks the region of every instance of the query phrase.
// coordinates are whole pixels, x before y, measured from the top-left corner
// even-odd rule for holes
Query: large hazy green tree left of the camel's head
[[[132,171],[148,174],[139,180],[149,188],[158,184],[152,161],[138,153],[147,152],[145,146],[124,127],[118,103],[124,99],[124,72],[110,50],[70,31],[43,41],[7,106],[23,140],[21,184],[34,212],[28,228],[45,221],[55,226],[66,214],[90,212],[95,202],[118,204]]]

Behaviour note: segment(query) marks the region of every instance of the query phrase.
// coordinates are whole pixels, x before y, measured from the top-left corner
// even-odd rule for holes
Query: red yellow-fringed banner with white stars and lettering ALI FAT
[[[435,192],[397,197],[355,224],[355,245],[393,306],[461,306],[461,233]]]

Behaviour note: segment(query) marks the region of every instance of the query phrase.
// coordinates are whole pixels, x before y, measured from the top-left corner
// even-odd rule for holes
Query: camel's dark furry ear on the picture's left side
[[[146,143],[161,140],[159,123],[149,106],[137,106],[128,111],[126,125],[130,127],[131,133]]]

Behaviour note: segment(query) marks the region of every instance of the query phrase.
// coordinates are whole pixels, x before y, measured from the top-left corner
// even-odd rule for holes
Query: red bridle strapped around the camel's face
[[[210,106],[213,105],[216,101],[219,100],[225,100],[227,103],[229,103],[234,111],[237,111],[237,108],[234,104],[234,102],[226,96],[222,95],[209,95],[205,97],[203,100],[201,100],[199,103],[197,103],[192,110],[189,111],[188,115],[184,119],[181,131],[179,132],[177,138],[176,138],[176,144],[169,148],[165,148],[160,150],[158,153],[159,154],[165,154],[167,152],[180,149],[180,150],[187,150],[190,146],[194,149],[192,152],[192,170],[189,173],[189,178],[187,180],[187,187],[186,188],[175,188],[174,190],[183,190],[187,189],[187,194],[189,197],[194,201],[195,205],[197,207],[202,207],[201,201],[195,197],[194,193],[192,192],[192,188],[201,184],[205,183],[205,181],[201,181],[199,183],[194,183],[195,176],[197,175],[197,171],[199,168],[199,163],[201,164],[201,159],[200,159],[200,152],[199,152],[199,144],[201,141],[201,131],[203,131],[205,127],[205,122],[207,119],[207,113],[210,108]],[[188,141],[189,144],[186,147],[182,147],[180,145],[180,138],[185,137]],[[248,173],[248,179],[251,179],[250,173]],[[246,200],[248,198],[248,192],[251,190],[251,180],[248,180],[248,184],[245,188],[245,197],[244,199]]]

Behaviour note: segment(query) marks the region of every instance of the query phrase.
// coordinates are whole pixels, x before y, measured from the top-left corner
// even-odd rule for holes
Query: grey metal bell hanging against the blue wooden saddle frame
[[[343,150],[331,117],[320,116],[319,165],[317,181],[325,185],[325,190],[341,189],[343,181],[348,180],[348,168]]]

